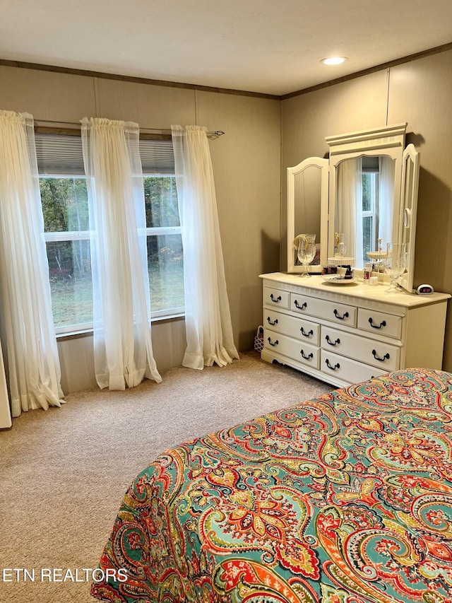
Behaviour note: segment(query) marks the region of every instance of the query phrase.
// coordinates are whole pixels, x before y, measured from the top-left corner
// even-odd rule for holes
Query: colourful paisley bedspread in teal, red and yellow
[[[452,375],[420,369],[174,447],[124,496],[91,594],[451,603],[451,448]]]

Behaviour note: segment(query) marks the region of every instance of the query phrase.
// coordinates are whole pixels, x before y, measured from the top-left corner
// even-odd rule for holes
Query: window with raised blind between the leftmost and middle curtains
[[[88,194],[80,136],[36,134],[44,238],[57,332],[93,324]]]

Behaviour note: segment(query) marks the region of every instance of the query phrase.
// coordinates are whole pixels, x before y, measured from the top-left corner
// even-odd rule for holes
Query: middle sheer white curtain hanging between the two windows
[[[82,120],[93,274],[95,374],[99,387],[160,382],[150,338],[143,174],[138,125]]]

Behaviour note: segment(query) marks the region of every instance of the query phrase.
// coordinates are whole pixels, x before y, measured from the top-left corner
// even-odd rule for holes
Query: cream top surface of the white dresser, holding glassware
[[[299,276],[299,274],[289,274],[287,272],[271,272],[269,274],[260,274],[261,279],[271,281],[275,287],[281,284],[302,287],[306,295],[315,294],[317,291],[326,293],[338,293],[347,295],[350,298],[371,300],[386,304],[393,304],[405,307],[415,307],[437,303],[448,300],[451,295],[448,293],[431,293],[429,295],[417,295],[417,293],[408,293],[400,290],[400,293],[388,293],[388,283],[379,283],[378,285],[364,285],[359,281],[347,284],[333,284],[323,280],[320,275],[311,274],[308,278]]]

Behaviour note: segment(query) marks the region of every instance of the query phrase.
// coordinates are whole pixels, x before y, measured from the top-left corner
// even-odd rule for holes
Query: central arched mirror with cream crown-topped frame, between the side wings
[[[345,235],[355,269],[369,262],[368,252],[383,251],[399,235],[400,189],[407,124],[328,136],[330,216],[328,256],[334,233]]]

